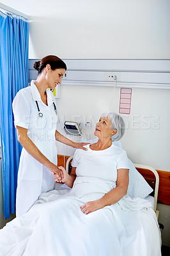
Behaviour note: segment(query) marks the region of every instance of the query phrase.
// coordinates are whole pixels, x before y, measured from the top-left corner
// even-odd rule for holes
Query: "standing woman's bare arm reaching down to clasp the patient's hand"
[[[51,163],[49,159],[47,159],[47,157],[45,157],[42,152],[40,152],[35,143],[33,143],[33,141],[31,141],[31,139],[27,136],[26,128],[17,126],[17,138],[22,147],[24,147],[31,156],[33,156],[38,162],[47,167],[50,172],[57,173],[57,175],[61,177],[62,172],[58,169],[58,167]]]

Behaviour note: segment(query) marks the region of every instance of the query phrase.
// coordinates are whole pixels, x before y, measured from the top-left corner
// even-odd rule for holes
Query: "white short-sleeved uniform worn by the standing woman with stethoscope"
[[[13,100],[14,124],[26,128],[27,135],[42,154],[57,164],[55,132],[58,118],[54,111],[55,98],[47,89],[46,106],[34,82],[31,81],[31,86],[20,90]],[[42,118],[38,118],[35,100],[43,113]],[[42,192],[54,189],[55,184],[52,173],[22,148],[17,183],[17,217],[26,213]]]

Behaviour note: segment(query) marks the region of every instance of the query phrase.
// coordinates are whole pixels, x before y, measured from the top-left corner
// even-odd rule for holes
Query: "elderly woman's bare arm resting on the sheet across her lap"
[[[87,202],[81,206],[82,212],[88,214],[106,205],[116,204],[123,196],[127,195],[128,169],[118,169],[117,187],[109,191],[102,198]]]

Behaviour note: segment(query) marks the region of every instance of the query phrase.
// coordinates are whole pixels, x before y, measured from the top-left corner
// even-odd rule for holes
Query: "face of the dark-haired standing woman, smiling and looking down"
[[[55,70],[49,68],[47,70],[46,80],[50,89],[54,90],[58,84],[61,84],[65,71],[65,68],[56,68]]]

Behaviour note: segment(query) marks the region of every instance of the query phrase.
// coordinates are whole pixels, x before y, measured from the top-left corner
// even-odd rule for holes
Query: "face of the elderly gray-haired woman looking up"
[[[100,117],[96,129],[95,136],[101,139],[111,138],[116,133],[116,129],[112,129],[112,122],[108,117]]]

